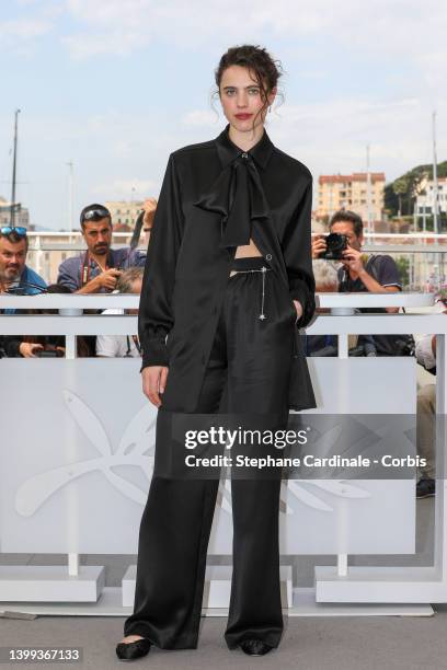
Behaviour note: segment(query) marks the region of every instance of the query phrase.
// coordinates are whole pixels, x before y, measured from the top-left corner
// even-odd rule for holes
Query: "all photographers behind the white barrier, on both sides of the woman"
[[[157,200],[145,201],[142,231],[146,245]],[[87,250],[64,261],[55,284],[49,286],[26,265],[28,239],[26,229],[3,226],[0,228],[0,293],[37,294],[53,293],[136,293],[141,291],[146,253],[130,247],[112,249],[113,226],[110,211],[99,204],[84,207],[80,215],[82,236]],[[347,210],[334,213],[329,223],[329,234],[316,234],[312,239],[313,272],[317,292],[374,292],[386,293],[402,290],[399,269],[389,255],[365,254],[362,218]],[[436,309],[444,310],[444,303]],[[0,313],[14,313],[13,309]],[[38,310],[27,310],[39,313]],[[131,312],[131,310],[129,310]],[[363,308],[362,312],[399,312],[399,308]],[[21,310],[22,312],[22,310]],[[48,311],[47,311],[48,312]],[[138,311],[135,310],[135,313]],[[42,313],[42,312],[41,312]],[[104,313],[123,313],[123,310],[105,310]],[[307,356],[337,356],[335,335],[303,335]],[[428,371],[436,371],[436,339],[432,336],[410,335],[349,335],[349,356],[411,356]],[[77,337],[77,355],[81,357],[139,357],[138,336]],[[2,336],[0,357],[64,357],[64,336]],[[417,496],[434,495],[435,471],[433,455],[433,423],[435,414],[435,385],[423,386],[417,398],[419,450],[427,459],[427,467],[421,473]]]

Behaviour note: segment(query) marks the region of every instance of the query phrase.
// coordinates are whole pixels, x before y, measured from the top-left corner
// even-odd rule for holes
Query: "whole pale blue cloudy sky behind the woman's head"
[[[284,74],[267,132],[320,174],[387,182],[447,160],[445,0],[9,0],[0,4],[0,196],[69,228],[89,203],[157,197],[171,151],[226,126],[214,71],[257,44]]]

